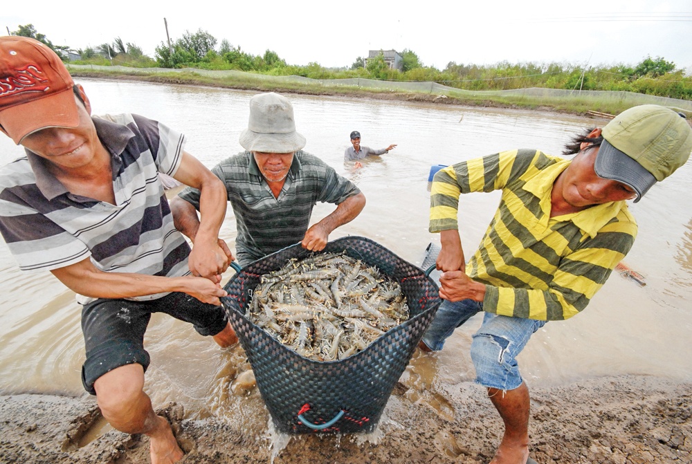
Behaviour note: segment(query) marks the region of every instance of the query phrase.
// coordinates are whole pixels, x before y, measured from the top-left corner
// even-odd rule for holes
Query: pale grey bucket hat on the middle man
[[[260,93],[250,99],[250,122],[240,134],[247,151],[292,153],[305,146],[305,138],[295,131],[293,105],[278,93]]]

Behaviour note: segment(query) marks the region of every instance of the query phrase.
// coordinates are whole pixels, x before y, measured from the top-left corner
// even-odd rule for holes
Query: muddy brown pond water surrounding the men
[[[94,113],[130,111],[179,128],[188,135],[187,150],[208,167],[241,149],[237,140],[246,127],[253,93],[99,80],[82,84]],[[305,149],[352,179],[367,196],[363,213],[331,238],[367,236],[412,263],[420,263],[427,243],[437,240],[428,233],[431,165],[519,147],[558,154],[570,134],[605,123],[540,111],[290,98],[298,131],[307,138]],[[343,163],[353,130],[361,131],[363,145],[399,146],[354,169]],[[0,138],[0,163],[20,155],[21,149]],[[551,322],[536,333],[520,355],[529,385],[626,373],[692,380],[686,342],[692,328],[692,203],[686,198],[691,181],[688,164],[632,205],[639,236],[625,262],[644,275],[646,286],[614,273],[582,314]],[[459,223],[468,255],[480,241],[498,198],[462,197]],[[318,205],[313,219],[330,210]],[[232,212],[221,236],[233,248]],[[232,274],[229,271],[226,278]],[[0,246],[0,281],[0,393],[82,394],[84,346],[73,293],[48,272],[19,272],[5,246]],[[473,380],[468,347],[479,324],[476,316],[457,330],[444,351],[415,356],[403,376],[403,382],[422,391],[415,394],[440,414],[448,414],[448,407],[441,398],[425,397],[424,387]],[[145,346],[152,356],[147,390],[156,405],[176,400],[194,418],[215,414],[266,426],[257,389],[235,380],[248,369],[242,349],[219,351],[190,326],[156,315]]]

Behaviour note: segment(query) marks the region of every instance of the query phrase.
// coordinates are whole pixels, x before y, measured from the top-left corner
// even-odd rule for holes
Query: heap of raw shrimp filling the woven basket
[[[322,253],[262,276],[248,319],[316,361],[343,360],[409,318],[401,286],[345,253]]]

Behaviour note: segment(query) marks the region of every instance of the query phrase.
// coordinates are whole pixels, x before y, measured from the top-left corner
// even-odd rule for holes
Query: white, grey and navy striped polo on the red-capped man
[[[158,180],[159,171],[173,175],[180,166],[183,134],[134,114],[92,120],[111,154],[115,205],[71,194],[28,150],[0,169],[0,233],[19,268],[53,270],[91,257],[106,272],[188,274],[190,247]]]

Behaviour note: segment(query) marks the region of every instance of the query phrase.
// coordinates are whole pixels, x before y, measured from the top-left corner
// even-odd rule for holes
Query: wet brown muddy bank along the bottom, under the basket
[[[471,382],[445,388],[398,384],[368,436],[289,439],[271,434],[267,413],[238,426],[185,419],[185,405],[161,412],[187,452],[184,464],[489,462],[502,431],[491,402]],[[262,401],[256,387],[253,396]],[[86,443],[100,421],[89,396],[0,397],[0,463],[149,461],[146,436],[110,429]],[[530,433],[538,463],[692,463],[692,384],[626,376],[532,388]]]

